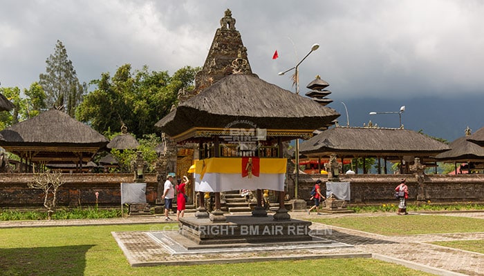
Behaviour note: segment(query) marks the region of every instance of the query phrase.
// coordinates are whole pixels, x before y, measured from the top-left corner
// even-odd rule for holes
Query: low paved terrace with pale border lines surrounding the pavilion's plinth
[[[289,259],[371,257],[371,253],[358,250],[353,245],[324,238],[315,238],[311,242],[200,245],[178,234],[176,230],[113,232],[112,235],[131,266],[237,264]]]

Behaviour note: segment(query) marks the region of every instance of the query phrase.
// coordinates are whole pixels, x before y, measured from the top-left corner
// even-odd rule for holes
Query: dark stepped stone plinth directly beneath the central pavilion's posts
[[[312,242],[310,225],[310,221],[299,219],[275,221],[272,215],[233,215],[223,222],[187,217],[180,219],[178,233],[199,245]]]

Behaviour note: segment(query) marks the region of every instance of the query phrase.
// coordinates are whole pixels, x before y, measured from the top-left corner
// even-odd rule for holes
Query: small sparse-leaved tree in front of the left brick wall
[[[47,209],[47,217],[50,219],[55,213],[57,203],[57,190],[64,185],[62,172],[40,172],[32,175],[33,181],[27,185],[29,188],[40,189],[44,192],[44,207]]]

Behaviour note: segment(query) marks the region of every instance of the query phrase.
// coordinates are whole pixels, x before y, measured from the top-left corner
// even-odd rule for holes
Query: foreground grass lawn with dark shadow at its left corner
[[[376,259],[132,268],[111,231],[164,225],[0,229],[1,275],[429,275]]]

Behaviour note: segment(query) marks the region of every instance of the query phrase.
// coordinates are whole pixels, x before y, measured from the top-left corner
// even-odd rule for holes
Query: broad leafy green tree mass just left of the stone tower
[[[147,66],[131,72],[131,64],[124,64],[112,78],[105,72],[91,82],[97,88],[84,97],[76,118],[101,133],[120,130],[122,124],[136,137],[156,133],[154,125],[176,104],[178,90],[193,89],[198,69],[186,66],[170,77]]]

